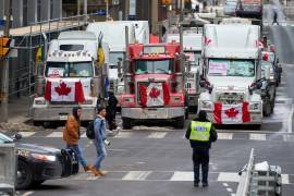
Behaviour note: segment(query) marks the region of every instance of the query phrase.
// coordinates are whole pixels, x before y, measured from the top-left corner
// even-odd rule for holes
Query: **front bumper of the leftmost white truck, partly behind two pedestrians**
[[[66,121],[72,107],[33,108],[34,121]],[[91,121],[96,117],[95,108],[83,108],[81,121]]]

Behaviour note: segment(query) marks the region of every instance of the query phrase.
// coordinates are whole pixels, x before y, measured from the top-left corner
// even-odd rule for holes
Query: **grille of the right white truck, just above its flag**
[[[223,105],[237,105],[244,100],[243,93],[217,93],[216,98]]]

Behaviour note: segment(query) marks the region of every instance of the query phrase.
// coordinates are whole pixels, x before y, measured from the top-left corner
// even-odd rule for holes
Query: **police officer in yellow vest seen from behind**
[[[201,166],[203,187],[208,186],[208,166],[209,166],[209,148],[211,142],[218,139],[218,134],[213,124],[207,120],[206,111],[199,111],[198,118],[194,119],[186,131],[186,138],[189,139],[193,148],[193,164],[194,164],[194,186],[199,185],[199,169]]]

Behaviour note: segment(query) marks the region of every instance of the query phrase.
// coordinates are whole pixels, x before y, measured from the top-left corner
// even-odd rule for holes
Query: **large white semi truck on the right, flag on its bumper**
[[[217,124],[262,122],[260,27],[208,24],[204,28],[203,78],[198,111],[206,110]]]

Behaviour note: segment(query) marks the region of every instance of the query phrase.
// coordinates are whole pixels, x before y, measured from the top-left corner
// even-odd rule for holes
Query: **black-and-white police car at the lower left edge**
[[[15,143],[17,155],[16,188],[24,189],[32,185],[39,185],[46,180],[66,177],[78,173],[76,155],[69,149],[24,144],[16,134],[11,138],[0,133],[0,144]]]

